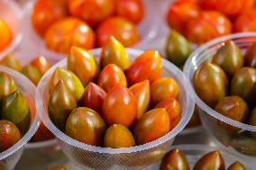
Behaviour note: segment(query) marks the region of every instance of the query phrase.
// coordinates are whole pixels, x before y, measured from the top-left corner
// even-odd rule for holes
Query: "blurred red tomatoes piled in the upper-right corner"
[[[170,4],[169,26],[202,44],[232,32],[256,31],[254,0],[178,0]]]

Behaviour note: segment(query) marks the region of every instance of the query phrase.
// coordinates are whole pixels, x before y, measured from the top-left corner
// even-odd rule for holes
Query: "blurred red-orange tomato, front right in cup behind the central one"
[[[97,45],[102,47],[110,36],[114,36],[123,46],[131,47],[140,40],[133,22],[122,17],[112,17],[102,22],[96,30]]]

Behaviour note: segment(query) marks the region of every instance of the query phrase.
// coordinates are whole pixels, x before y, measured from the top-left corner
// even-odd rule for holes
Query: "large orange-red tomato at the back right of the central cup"
[[[161,76],[161,56],[157,50],[145,50],[138,58],[133,60],[125,75],[129,85],[149,80],[153,82]]]

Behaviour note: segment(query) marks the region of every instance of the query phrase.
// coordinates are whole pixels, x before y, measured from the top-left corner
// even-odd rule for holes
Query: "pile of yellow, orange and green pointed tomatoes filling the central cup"
[[[126,148],[159,139],[178,125],[178,84],[161,77],[158,51],[146,50],[130,64],[123,45],[111,37],[100,66],[87,50],[72,47],[67,68],[58,67],[50,76],[48,110],[69,137]]]

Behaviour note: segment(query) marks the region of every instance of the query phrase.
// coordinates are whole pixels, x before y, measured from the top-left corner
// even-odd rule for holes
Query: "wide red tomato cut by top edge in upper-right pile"
[[[234,16],[251,9],[254,0],[198,0],[203,9],[217,10],[228,16]]]

